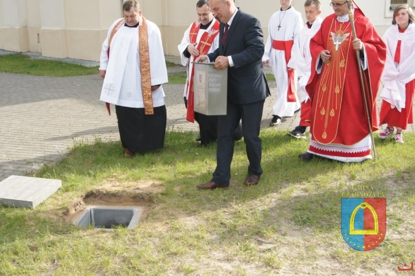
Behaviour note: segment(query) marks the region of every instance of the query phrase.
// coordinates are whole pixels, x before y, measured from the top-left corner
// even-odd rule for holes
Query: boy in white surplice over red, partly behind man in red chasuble
[[[311,101],[305,86],[311,75],[311,53],[310,40],[319,31],[321,22],[321,3],[319,0],[306,0],[304,3],[305,17],[307,22],[302,28],[300,35],[294,41],[290,64],[294,64],[294,69],[297,71],[300,78],[298,86],[300,88],[301,96],[301,116],[300,124],[294,130],[288,133],[294,138],[306,138],[305,130],[310,126],[310,111]]]

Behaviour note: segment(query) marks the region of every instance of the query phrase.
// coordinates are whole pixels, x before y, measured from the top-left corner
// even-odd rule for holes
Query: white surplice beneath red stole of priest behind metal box
[[[199,46],[200,43],[200,38],[202,37],[203,34],[211,32],[212,26],[215,24],[216,19],[213,17],[212,22],[210,23],[209,27],[207,27],[206,30],[202,30],[199,29],[199,32],[197,33],[197,37],[196,37],[196,48]],[[177,48],[179,49],[179,53],[180,53],[180,62],[182,63],[183,66],[187,66],[186,68],[186,72],[187,72],[187,80],[186,80],[186,85],[185,85],[185,90],[184,90],[184,94],[183,96],[186,97],[186,99],[189,98],[189,83],[190,83],[190,75],[191,75],[191,70],[193,69],[193,60],[194,60],[194,56],[190,56],[189,58],[187,58],[183,52],[189,47],[190,43],[190,30],[191,27],[193,26],[193,23],[190,24],[189,28],[185,31],[185,34],[183,35],[182,38],[182,42],[177,46]],[[212,45],[210,46],[209,50],[207,51],[207,53],[211,53],[214,52],[218,47],[219,47],[219,33],[215,34],[216,37],[213,40]]]

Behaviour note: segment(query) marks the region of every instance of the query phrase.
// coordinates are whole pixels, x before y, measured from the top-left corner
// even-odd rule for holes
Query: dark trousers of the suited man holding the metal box
[[[219,116],[218,147],[216,152],[216,170],[212,181],[229,185],[230,164],[234,149],[234,130],[242,119],[242,133],[249,160],[248,174],[261,175],[262,141],[259,137],[262,112],[265,100],[252,104],[232,104],[227,102],[226,115]]]

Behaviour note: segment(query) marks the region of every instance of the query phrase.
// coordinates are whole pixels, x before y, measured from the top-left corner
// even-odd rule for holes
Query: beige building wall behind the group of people
[[[99,61],[102,42],[114,20],[122,17],[125,0],[0,0],[0,49],[39,52],[43,56]],[[408,0],[413,6],[415,0]],[[177,45],[197,19],[197,0],[140,0],[143,15],[156,23],[166,55],[179,56]],[[235,0],[257,17],[268,35],[268,20],[280,9],[278,0]],[[333,13],[330,0],[321,0],[322,17]],[[382,35],[391,25],[390,0],[356,0]],[[304,16],[304,0],[292,6]]]

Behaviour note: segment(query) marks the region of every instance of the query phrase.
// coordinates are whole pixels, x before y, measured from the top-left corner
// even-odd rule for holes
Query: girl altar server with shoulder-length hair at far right
[[[392,24],[382,37],[387,55],[382,74],[380,124],[387,126],[379,133],[379,138],[392,136],[396,127],[394,140],[403,143],[402,130],[414,122],[415,24],[412,8],[407,4],[398,5]]]

